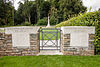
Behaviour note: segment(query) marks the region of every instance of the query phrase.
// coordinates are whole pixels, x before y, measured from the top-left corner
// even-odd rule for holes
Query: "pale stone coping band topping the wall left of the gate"
[[[38,33],[39,29],[36,26],[6,27],[5,33]]]

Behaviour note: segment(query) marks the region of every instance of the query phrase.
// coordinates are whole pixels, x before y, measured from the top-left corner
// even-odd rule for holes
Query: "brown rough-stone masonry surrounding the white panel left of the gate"
[[[37,34],[30,34],[30,47],[12,46],[12,35],[0,33],[0,56],[28,56],[39,52],[39,39]]]

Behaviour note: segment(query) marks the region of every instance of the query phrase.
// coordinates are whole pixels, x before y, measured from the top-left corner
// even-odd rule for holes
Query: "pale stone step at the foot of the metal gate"
[[[59,50],[40,50],[38,55],[63,55]]]

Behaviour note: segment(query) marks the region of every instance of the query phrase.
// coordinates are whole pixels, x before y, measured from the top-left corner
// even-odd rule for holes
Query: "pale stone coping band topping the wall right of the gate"
[[[91,33],[95,34],[94,26],[65,26],[61,27],[62,33]]]

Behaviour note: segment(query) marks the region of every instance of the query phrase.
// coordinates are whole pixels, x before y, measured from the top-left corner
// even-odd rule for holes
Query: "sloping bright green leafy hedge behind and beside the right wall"
[[[89,12],[85,14],[80,14],[77,17],[73,17],[67,21],[61,22],[56,25],[57,27],[61,26],[95,26],[95,47],[96,54],[100,54],[100,10],[96,12]]]

